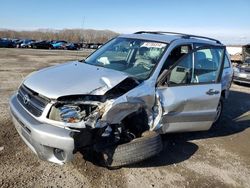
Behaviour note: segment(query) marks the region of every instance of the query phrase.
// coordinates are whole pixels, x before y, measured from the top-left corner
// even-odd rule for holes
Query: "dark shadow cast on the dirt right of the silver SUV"
[[[250,94],[231,91],[220,122],[208,131],[164,134],[163,151],[155,157],[130,165],[132,168],[166,166],[189,159],[199,146],[192,140],[223,137],[240,133],[250,127]]]

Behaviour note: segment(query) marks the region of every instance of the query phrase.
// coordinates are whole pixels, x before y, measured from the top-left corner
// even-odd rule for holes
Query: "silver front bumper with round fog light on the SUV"
[[[72,131],[37,121],[18,102],[16,94],[10,99],[10,111],[19,135],[40,159],[58,164],[73,159]]]

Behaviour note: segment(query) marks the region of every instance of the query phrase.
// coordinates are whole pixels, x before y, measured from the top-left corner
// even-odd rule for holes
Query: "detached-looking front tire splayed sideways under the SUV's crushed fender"
[[[102,151],[101,163],[110,169],[117,168],[148,159],[160,153],[161,150],[160,135],[154,131],[146,131],[141,137],[129,143]]]

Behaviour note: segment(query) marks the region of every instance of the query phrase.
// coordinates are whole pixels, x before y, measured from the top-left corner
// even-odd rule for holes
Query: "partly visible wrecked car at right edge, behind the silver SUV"
[[[250,84],[250,44],[242,47],[243,64],[234,68],[233,81],[236,83]]]

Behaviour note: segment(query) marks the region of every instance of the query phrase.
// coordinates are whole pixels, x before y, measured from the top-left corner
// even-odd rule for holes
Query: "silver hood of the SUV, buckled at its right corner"
[[[34,72],[23,83],[45,97],[57,99],[66,95],[103,95],[127,77],[112,69],[70,62]]]

